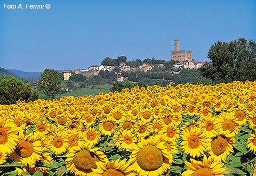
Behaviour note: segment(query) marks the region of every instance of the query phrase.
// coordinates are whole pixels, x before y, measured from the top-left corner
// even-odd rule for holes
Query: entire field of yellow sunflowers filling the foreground
[[[256,175],[256,82],[0,105],[0,175]]]

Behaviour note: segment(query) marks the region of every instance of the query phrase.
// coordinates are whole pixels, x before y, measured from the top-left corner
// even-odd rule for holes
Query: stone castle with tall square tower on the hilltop
[[[172,51],[172,60],[175,61],[192,61],[192,51],[181,50],[179,48],[179,40],[174,39],[174,51]]]

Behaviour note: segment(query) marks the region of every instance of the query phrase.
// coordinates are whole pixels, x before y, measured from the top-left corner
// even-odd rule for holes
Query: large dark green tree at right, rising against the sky
[[[214,43],[207,54],[211,60],[200,69],[215,83],[256,80],[256,43],[245,38]]]

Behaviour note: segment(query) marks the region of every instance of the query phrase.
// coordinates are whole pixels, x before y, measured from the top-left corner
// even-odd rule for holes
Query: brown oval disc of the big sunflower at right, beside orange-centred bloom
[[[217,156],[224,153],[227,147],[228,147],[227,139],[221,137],[220,135],[218,136],[218,138],[215,138],[211,143],[212,152]]]

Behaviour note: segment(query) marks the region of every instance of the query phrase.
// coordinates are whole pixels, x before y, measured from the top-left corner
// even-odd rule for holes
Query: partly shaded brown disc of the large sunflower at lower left
[[[33,154],[33,151],[34,149],[32,144],[25,140],[18,141],[18,145],[15,148],[15,153],[23,158],[31,156]]]

